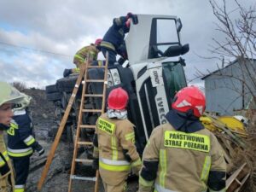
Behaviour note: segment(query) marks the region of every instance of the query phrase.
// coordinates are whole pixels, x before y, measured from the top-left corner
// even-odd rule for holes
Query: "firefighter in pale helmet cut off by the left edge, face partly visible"
[[[20,102],[23,96],[11,85],[0,82],[0,191],[9,192],[15,188],[13,168],[6,150],[3,131],[9,129],[12,121],[12,105]]]

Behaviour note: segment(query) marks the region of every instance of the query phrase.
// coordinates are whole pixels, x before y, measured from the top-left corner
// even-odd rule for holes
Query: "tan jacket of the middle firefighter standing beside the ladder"
[[[96,135],[98,146],[95,146],[94,157],[99,158],[105,183],[119,184],[128,177],[131,166],[141,167],[133,125],[128,119],[109,119],[107,113],[103,113],[96,121]]]

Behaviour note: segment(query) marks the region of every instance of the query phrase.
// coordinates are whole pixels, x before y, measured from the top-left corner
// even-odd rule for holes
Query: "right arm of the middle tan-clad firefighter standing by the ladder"
[[[135,146],[135,133],[131,123],[124,125],[119,135],[119,141],[123,148],[125,159],[131,162],[132,171],[138,175],[142,166],[142,160],[137,153],[137,148]]]

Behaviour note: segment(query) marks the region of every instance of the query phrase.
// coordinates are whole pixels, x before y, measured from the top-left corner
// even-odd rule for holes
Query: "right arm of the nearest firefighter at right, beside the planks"
[[[210,192],[224,192],[226,187],[226,162],[224,160],[222,148],[220,147],[217,138],[213,135],[211,142],[212,165],[209,172],[207,185]]]

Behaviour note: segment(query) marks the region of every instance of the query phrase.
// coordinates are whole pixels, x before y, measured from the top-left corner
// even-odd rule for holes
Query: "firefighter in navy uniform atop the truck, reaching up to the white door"
[[[116,63],[116,55],[119,54],[124,60],[128,59],[125,46],[125,33],[129,32],[131,18],[133,15],[128,13],[126,16],[113,19],[113,25],[110,26],[108,32],[105,33],[100,49],[106,58],[108,51],[108,66]]]

